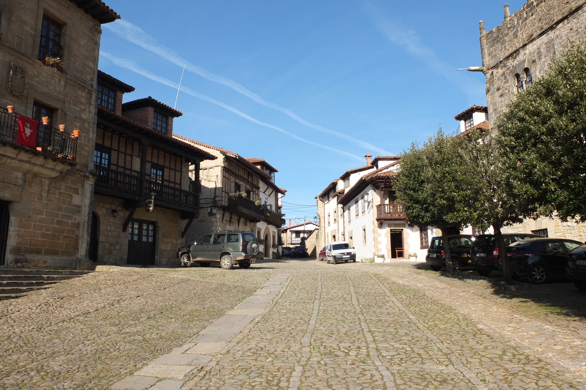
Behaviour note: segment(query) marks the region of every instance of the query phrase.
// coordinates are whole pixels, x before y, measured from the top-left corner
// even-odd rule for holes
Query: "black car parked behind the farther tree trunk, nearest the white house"
[[[452,259],[452,268],[466,269],[470,266],[470,248],[476,237],[471,234],[454,234],[448,235],[450,257]],[[445,252],[443,240],[441,237],[432,237],[430,247],[425,255],[425,262],[430,266],[432,271],[440,271],[445,266]]]

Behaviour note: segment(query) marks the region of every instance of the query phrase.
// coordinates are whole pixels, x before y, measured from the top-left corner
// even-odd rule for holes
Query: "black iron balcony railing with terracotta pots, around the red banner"
[[[9,114],[4,108],[0,108],[0,139],[15,145],[22,145],[21,142],[17,141],[18,114]],[[30,145],[22,146],[33,149]],[[39,122],[34,148],[47,155],[75,162],[77,138]]]

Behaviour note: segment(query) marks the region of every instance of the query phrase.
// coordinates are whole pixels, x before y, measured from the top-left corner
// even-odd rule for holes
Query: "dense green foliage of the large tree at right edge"
[[[586,220],[586,46],[554,59],[497,121],[517,199],[542,215]],[[531,215],[528,215],[531,216]]]

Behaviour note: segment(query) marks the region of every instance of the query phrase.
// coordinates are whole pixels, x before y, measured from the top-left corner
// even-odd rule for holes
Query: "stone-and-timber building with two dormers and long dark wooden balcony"
[[[97,91],[90,259],[176,265],[199,217],[200,162],[215,157],[173,138],[181,112],[152,97],[123,103],[134,88],[103,72]]]

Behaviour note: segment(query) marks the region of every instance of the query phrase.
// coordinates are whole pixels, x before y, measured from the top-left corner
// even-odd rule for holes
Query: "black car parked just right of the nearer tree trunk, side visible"
[[[547,283],[553,276],[565,277],[568,253],[581,244],[563,238],[530,238],[513,242],[507,247],[511,276],[524,276],[534,285]],[[502,260],[499,260],[498,270],[503,270]]]

